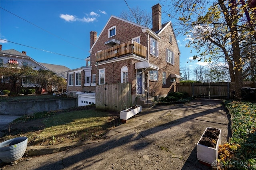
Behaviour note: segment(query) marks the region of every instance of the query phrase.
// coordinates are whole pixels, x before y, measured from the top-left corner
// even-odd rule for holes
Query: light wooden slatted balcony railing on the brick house
[[[140,43],[129,41],[96,53],[96,62],[121,57],[126,54],[135,54],[146,58],[146,53],[147,47]]]

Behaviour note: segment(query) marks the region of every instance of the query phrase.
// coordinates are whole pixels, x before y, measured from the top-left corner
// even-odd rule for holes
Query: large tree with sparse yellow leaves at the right
[[[244,60],[241,51],[256,41],[256,8],[244,0],[164,1],[166,14],[175,18],[178,32],[190,36],[187,47],[194,47],[194,59],[225,59],[236,97],[240,98]],[[254,40],[254,41],[252,41]],[[247,53],[256,53],[256,48]],[[255,55],[254,55],[255,58]]]

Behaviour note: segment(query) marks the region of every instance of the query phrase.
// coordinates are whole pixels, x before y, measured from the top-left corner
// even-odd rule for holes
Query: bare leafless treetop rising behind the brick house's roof
[[[130,11],[123,10],[120,17],[142,26],[152,26],[152,15],[146,10],[140,9],[138,6],[131,8]]]

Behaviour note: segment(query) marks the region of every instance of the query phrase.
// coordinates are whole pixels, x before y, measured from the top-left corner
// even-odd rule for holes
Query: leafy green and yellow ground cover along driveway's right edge
[[[243,166],[228,167],[256,170],[256,103],[246,101],[225,101],[231,115],[231,142],[220,146],[220,160],[243,162]],[[240,164],[241,165],[241,164]]]

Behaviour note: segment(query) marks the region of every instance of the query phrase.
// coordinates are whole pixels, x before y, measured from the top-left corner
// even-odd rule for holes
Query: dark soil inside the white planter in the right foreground
[[[199,141],[199,144],[202,144],[204,146],[208,146],[211,148],[216,148],[216,143],[217,143],[219,134],[220,134],[220,130],[216,128],[207,128],[201,140]]]

